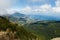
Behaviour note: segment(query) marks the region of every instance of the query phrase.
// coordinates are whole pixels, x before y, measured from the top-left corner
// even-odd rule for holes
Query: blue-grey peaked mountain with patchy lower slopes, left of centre
[[[19,12],[15,12],[12,15],[8,16],[10,21],[16,22],[16,23],[21,23],[21,24],[26,24],[26,23],[30,23],[32,21],[32,19],[30,19],[28,17],[28,15],[19,13]]]

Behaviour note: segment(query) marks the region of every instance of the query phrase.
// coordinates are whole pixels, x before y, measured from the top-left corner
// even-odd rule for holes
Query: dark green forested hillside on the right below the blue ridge
[[[44,36],[46,40],[60,37],[60,21],[38,21],[26,25],[26,29]]]

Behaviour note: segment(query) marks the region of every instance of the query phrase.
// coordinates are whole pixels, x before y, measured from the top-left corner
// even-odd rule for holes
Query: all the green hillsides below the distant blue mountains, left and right
[[[60,21],[37,21],[19,25],[0,16],[1,31],[6,32],[10,40],[50,40],[60,37]]]

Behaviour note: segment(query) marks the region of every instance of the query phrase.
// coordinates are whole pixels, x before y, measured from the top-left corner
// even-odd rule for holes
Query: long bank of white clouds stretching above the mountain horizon
[[[45,5],[41,5],[41,6],[36,6],[36,7],[29,7],[29,6],[26,6],[25,8],[22,8],[22,9],[9,9],[8,12],[15,12],[15,11],[18,11],[18,12],[21,12],[21,13],[24,13],[24,14],[28,14],[28,13],[40,13],[43,15],[52,15],[55,13],[59,13],[60,12],[60,7],[51,7],[51,5],[48,5],[48,4],[45,4]]]

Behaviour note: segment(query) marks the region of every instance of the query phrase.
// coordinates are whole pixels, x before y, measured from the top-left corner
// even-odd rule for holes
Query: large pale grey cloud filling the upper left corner
[[[0,15],[7,14],[6,9],[13,6],[15,0],[0,0]]]

